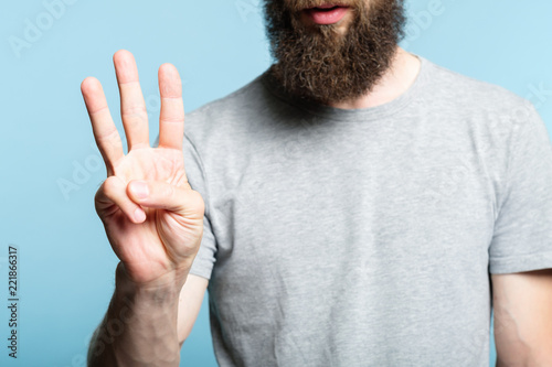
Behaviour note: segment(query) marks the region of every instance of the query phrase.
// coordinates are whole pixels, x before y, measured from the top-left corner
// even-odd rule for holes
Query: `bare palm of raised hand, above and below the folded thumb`
[[[125,183],[131,180],[162,181],[176,186],[185,185],[182,152],[142,148],[132,150],[114,168]],[[134,224],[117,207],[106,217],[106,229],[115,253],[137,278],[156,278],[167,271],[170,261],[190,251],[187,247],[167,246],[190,244],[199,233],[201,213],[194,222],[164,209],[146,208],[146,220]]]

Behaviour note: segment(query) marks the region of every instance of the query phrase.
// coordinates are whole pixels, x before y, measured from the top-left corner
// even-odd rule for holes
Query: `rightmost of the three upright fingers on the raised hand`
[[[184,139],[184,104],[182,82],[177,68],[171,64],[159,67],[159,147],[182,150]]]

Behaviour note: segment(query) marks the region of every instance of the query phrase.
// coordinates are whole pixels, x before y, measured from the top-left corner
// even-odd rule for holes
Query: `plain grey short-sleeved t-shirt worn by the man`
[[[488,366],[489,273],[552,268],[552,147],[524,99],[424,57],[393,101],[267,73],[187,116],[221,366]]]

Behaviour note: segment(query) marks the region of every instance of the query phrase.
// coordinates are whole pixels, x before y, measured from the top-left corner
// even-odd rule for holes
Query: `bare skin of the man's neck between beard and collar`
[[[341,109],[359,109],[390,102],[411,87],[420,73],[420,58],[397,46],[391,67],[370,93],[353,100],[328,105]]]

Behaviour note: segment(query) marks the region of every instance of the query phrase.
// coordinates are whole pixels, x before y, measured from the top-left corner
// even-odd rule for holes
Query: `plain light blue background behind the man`
[[[93,206],[105,171],[97,164],[81,82],[99,78],[120,121],[112,55],[131,51],[153,139],[162,63],[181,72],[188,111],[241,87],[270,63],[258,0],[72,2],[51,11],[55,18],[45,15],[49,7],[38,0],[4,2],[0,11],[2,366],[85,366],[89,336],[113,292],[117,259]],[[552,95],[534,90],[552,89],[552,2],[412,0],[407,6],[406,50],[531,98],[550,131]],[[10,42],[24,40],[28,22],[43,31],[28,34],[32,42],[17,51]],[[75,179],[78,168],[84,173]],[[60,183],[67,182],[72,190],[62,190]],[[17,360],[6,348],[9,244],[20,249]],[[206,298],[182,355],[188,360],[182,365],[216,365]]]

